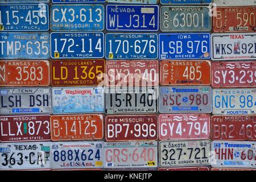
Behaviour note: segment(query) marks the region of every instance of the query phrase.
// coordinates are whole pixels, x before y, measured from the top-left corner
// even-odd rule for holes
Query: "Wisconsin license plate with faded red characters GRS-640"
[[[105,168],[154,168],[158,166],[156,141],[104,142]]]

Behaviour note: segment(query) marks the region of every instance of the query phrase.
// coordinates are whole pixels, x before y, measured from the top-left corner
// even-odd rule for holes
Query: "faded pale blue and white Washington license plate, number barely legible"
[[[52,113],[103,113],[104,88],[52,88]]]

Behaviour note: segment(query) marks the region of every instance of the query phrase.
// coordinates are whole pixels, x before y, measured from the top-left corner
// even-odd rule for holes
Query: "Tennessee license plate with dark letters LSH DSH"
[[[0,89],[0,114],[51,113],[51,88]]]

